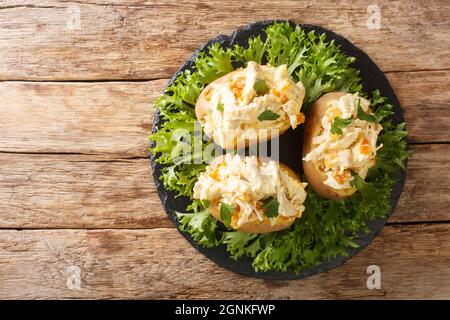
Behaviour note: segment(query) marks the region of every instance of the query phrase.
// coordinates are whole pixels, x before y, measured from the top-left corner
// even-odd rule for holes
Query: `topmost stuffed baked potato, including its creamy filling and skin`
[[[305,88],[295,84],[286,65],[250,61],[206,86],[195,113],[204,132],[224,149],[272,139],[304,122]]]

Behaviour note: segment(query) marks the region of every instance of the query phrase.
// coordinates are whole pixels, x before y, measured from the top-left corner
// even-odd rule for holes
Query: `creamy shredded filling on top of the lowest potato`
[[[208,166],[194,186],[194,198],[209,200],[211,205],[226,203],[236,207],[231,221],[235,229],[247,221],[300,217],[305,210],[306,183],[290,177],[273,160],[227,154],[218,166]],[[268,218],[262,201],[272,196],[279,202],[278,216]]]

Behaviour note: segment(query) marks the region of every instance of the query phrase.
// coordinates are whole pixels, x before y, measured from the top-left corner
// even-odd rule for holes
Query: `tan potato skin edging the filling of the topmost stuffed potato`
[[[268,66],[261,66],[261,68],[267,68]],[[244,69],[237,69],[235,71],[232,71],[222,77],[220,77],[219,79],[214,80],[212,83],[214,84],[224,84],[229,78],[231,77],[239,77],[239,76],[244,76],[246,73],[246,71]],[[209,90],[212,90],[211,84],[207,85],[202,92],[200,93],[197,102],[195,103],[195,115],[197,116],[197,120],[199,120],[200,122],[202,122],[202,119],[207,115],[210,104],[209,101],[206,99],[205,97],[205,93],[208,92]],[[300,111],[299,111],[300,113]],[[228,139],[224,145],[220,145],[220,147],[222,147],[225,150],[236,150],[236,149],[240,149],[240,148],[245,148],[245,147],[249,147],[252,146],[254,144],[260,143],[260,142],[264,142],[267,141],[269,139],[272,138],[276,138],[279,135],[282,135],[284,132],[286,132],[286,130],[288,130],[290,128],[290,123],[289,121],[286,122],[286,124],[284,124],[280,130],[278,131],[277,134],[273,134],[269,137],[255,137],[255,138],[249,138],[246,139],[245,141],[243,141],[244,143],[240,143],[238,145],[238,141],[237,141],[237,137],[235,137],[235,139]],[[239,135],[239,134],[237,134]],[[212,140],[213,137],[210,137]],[[231,141],[229,141],[231,140]],[[214,141],[215,143],[217,143],[217,141]],[[217,143],[218,144],[218,143]]]

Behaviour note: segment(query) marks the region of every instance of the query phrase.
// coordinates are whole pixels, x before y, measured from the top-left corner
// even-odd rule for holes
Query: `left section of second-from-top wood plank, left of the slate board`
[[[146,156],[166,80],[0,83],[0,150]]]

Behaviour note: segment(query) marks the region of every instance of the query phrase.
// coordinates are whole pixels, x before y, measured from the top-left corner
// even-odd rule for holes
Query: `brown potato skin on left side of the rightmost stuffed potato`
[[[332,100],[337,100],[346,94],[346,92],[326,93],[311,107],[305,123],[302,158],[306,157],[306,155],[312,150],[312,139],[320,133],[322,128],[321,120],[328,109],[329,102]],[[303,172],[305,173],[306,180],[310,186],[319,196],[323,198],[344,199],[351,196],[356,191],[354,189],[350,189],[338,192],[324,184],[323,182],[327,179],[327,176],[316,167],[314,161],[303,160]]]

